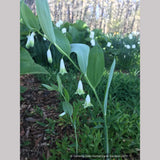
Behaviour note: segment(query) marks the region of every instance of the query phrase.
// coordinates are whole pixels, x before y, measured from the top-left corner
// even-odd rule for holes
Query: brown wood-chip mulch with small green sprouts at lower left
[[[41,88],[41,83],[33,75],[20,77],[21,86],[26,91],[21,94],[23,100],[20,103],[20,159],[42,160],[42,155],[49,157],[49,150],[56,147],[56,140],[73,133],[71,126],[60,126],[58,124],[59,95],[55,91],[47,91]],[[46,119],[55,122],[52,130],[47,133]]]

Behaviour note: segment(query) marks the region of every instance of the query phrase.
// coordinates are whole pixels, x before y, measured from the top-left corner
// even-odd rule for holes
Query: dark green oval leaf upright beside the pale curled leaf
[[[103,50],[100,47],[95,46],[90,50],[87,67],[87,77],[94,88],[96,88],[101,80],[104,67]]]

